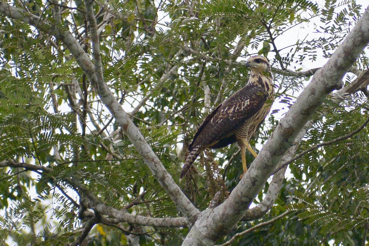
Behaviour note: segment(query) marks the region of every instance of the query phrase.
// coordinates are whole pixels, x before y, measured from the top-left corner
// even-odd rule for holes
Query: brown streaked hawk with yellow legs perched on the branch
[[[249,145],[251,136],[265,119],[274,100],[274,87],[268,60],[263,56],[252,56],[246,62],[251,75],[245,87],[238,90],[220,104],[197,130],[189,146],[189,155],[182,168],[180,179],[186,175],[192,163],[205,149],[222,148],[237,141],[241,148],[244,174],[246,167],[246,148],[256,157]]]

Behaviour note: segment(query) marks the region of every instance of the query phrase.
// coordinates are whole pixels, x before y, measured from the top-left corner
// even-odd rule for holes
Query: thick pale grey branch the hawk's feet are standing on
[[[293,146],[306,122],[328,94],[342,86],[342,77],[368,42],[369,9],[365,11],[328,62],[315,73],[312,81],[280,121],[230,197],[218,207],[201,212],[182,245],[212,245],[215,240],[226,235],[230,228],[237,224],[284,153]]]

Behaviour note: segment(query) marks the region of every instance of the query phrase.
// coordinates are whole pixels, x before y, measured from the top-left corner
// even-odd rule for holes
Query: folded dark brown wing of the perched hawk
[[[220,104],[197,130],[189,146],[201,148],[221,148],[235,142],[235,132],[247,119],[258,112],[266,101],[263,89],[254,84],[248,84],[230,98]]]

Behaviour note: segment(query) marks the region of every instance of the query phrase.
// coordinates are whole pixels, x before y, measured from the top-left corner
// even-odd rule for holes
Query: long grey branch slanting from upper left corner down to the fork
[[[40,30],[55,35],[59,40],[68,47],[73,57],[76,59],[79,66],[83,69],[90,82],[97,90],[101,101],[106,105],[108,110],[116,119],[117,124],[123,129],[132,144],[136,147],[138,153],[144,159],[159,184],[169,194],[172,201],[176,204],[177,209],[185,216],[188,216],[191,221],[197,218],[199,210],[188,200],[182,190],[177,186],[172,176],[166,171],[158,156],[152,151],[149,144],[138,128],[133,124],[128,114],[123,110],[121,105],[111,93],[107,84],[103,81],[100,72],[96,71],[95,66],[89,59],[88,54],[83,51],[75,37],[68,30],[61,30],[56,25],[48,21],[40,19],[36,15],[25,13],[23,10],[10,6],[7,3],[0,2],[0,13],[9,18],[17,19],[34,25]],[[99,67],[100,64],[97,64]],[[98,79],[99,77],[99,79]]]

